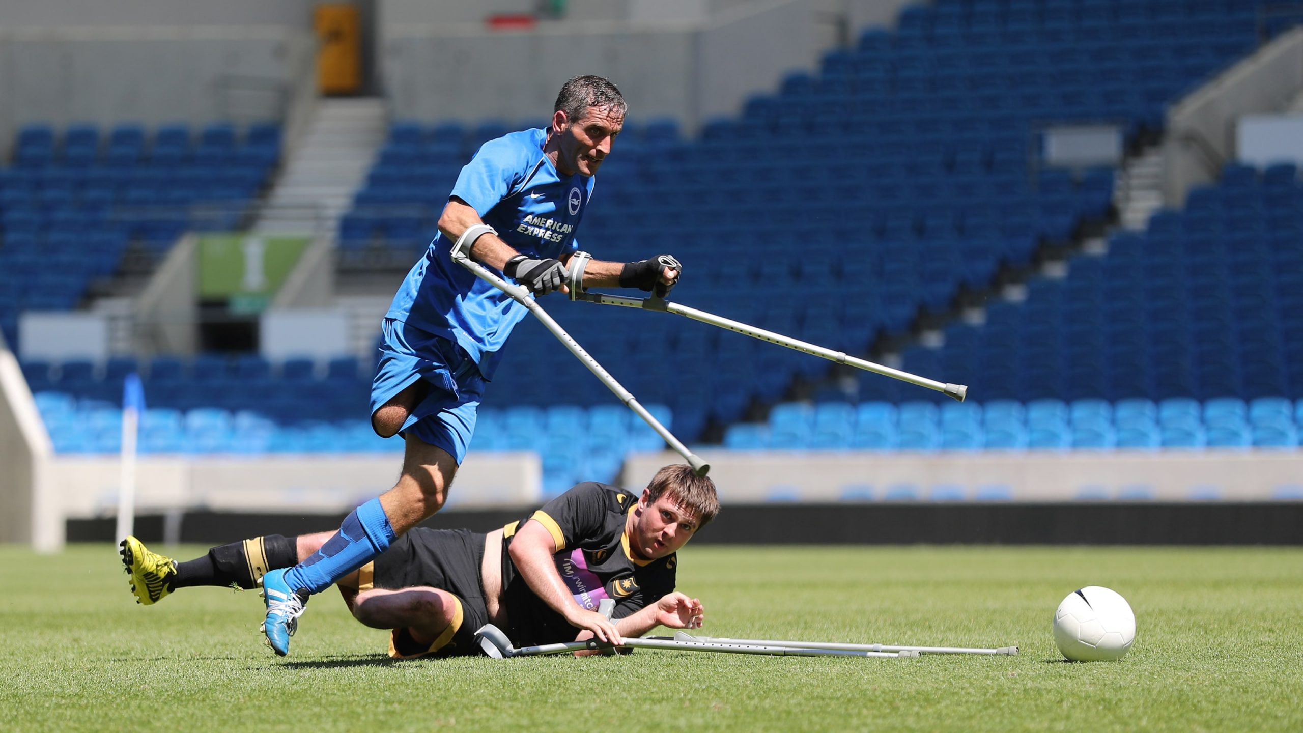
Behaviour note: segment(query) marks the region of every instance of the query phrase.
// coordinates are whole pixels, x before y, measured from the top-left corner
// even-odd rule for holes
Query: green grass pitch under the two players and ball
[[[709,634],[1022,655],[407,663],[334,592],[283,660],[255,630],[255,593],[194,588],[138,606],[115,550],[0,549],[0,728],[1303,729],[1303,549],[689,546],[680,587],[706,604]],[[1054,647],[1054,608],[1087,584],[1136,612],[1119,663],[1063,663]]]

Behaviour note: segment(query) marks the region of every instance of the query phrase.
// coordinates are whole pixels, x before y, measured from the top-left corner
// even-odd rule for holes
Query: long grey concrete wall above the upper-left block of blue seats
[[[313,64],[311,34],[285,26],[5,23],[0,146],[8,149],[14,130],[29,123],[276,120]]]

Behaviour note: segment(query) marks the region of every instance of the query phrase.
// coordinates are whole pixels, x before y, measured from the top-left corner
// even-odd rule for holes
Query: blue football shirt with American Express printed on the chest
[[[575,230],[593,193],[593,179],[562,176],[543,155],[546,140],[546,129],[529,129],[483,143],[461,168],[450,198],[474,207],[521,254],[559,260],[579,250]],[[386,317],[457,342],[491,380],[525,307],[453,262],[452,245],[442,232],[435,235]]]

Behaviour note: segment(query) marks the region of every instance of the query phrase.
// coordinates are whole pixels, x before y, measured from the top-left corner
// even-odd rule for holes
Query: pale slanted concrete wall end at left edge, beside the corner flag
[[[18,360],[0,337],[0,543],[38,552],[64,545],[59,496],[47,490],[53,454]]]

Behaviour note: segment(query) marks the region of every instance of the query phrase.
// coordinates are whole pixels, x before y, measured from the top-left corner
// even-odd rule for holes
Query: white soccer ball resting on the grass
[[[1088,586],[1072,591],[1054,612],[1054,643],[1074,661],[1122,659],[1136,640],[1136,617],[1127,599]]]

